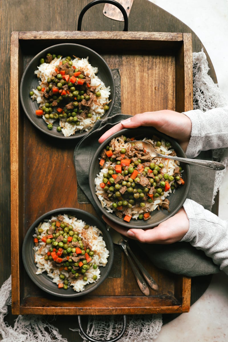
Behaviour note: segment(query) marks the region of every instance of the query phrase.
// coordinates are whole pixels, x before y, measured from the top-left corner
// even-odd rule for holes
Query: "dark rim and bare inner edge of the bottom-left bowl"
[[[49,277],[46,275],[46,272],[44,272],[44,274],[41,273],[41,274],[37,275],[34,272],[32,272],[31,267],[28,266],[27,259],[29,258],[29,256],[28,256],[29,253],[27,252],[27,245],[29,243],[31,243],[29,239],[31,239],[32,235],[35,233],[35,227],[40,222],[42,222],[43,220],[50,219],[51,216],[54,216],[56,214],[64,214],[64,212],[67,215],[72,212],[73,216],[75,216],[76,218],[77,218],[77,214],[82,215],[82,216],[86,215],[85,220],[83,220],[85,222],[86,222],[86,218],[90,218],[91,220],[93,220],[94,221],[94,225],[97,226],[97,228],[102,232],[103,237],[104,237],[103,233],[105,232],[105,235],[106,235],[106,239],[105,239],[106,248],[107,248],[107,245],[109,245],[109,249],[108,249],[109,250],[108,262],[107,262],[106,266],[104,266],[105,274],[103,276],[101,276],[96,282],[91,283],[91,284],[86,284],[85,285],[85,289],[83,291],[80,291],[80,292],[76,292],[76,291],[74,291],[72,289],[72,287],[70,287],[69,288],[70,293],[69,292],[67,293],[67,291],[65,291],[65,292],[60,292],[59,291],[59,293],[57,293],[57,292],[55,293],[55,292],[53,292],[52,289],[46,288],[45,285],[43,285],[43,281],[42,281],[43,278],[41,278],[42,275],[45,276],[46,280],[50,281],[50,286],[49,287],[53,287],[53,289],[55,290],[55,285],[56,284],[52,282],[51,278],[49,279]],[[82,218],[79,218],[79,220],[82,220]],[[30,253],[32,253],[32,251]],[[27,272],[29,278],[33,281],[33,283],[35,285],[37,285],[44,292],[49,293],[51,295],[54,295],[55,297],[63,297],[64,299],[81,297],[81,296],[84,296],[84,295],[92,292],[93,290],[95,290],[107,278],[107,276],[108,276],[108,274],[110,272],[110,269],[112,267],[112,264],[113,264],[113,259],[114,259],[113,242],[112,242],[111,236],[110,236],[108,230],[106,229],[105,225],[99,219],[97,219],[94,215],[92,215],[90,212],[87,212],[87,211],[84,211],[84,210],[81,210],[81,209],[77,209],[77,208],[70,208],[70,207],[57,208],[57,209],[53,209],[53,210],[50,210],[50,211],[42,214],[28,228],[28,231],[25,234],[25,237],[24,237],[24,240],[23,240],[23,245],[22,245],[22,260],[23,260],[23,264],[24,264],[24,267],[26,269],[26,272]],[[33,264],[35,265],[34,262],[33,262]],[[99,267],[103,267],[103,266],[99,266]],[[89,288],[86,289],[86,286],[89,286]],[[58,287],[56,288],[56,290],[59,290]]]

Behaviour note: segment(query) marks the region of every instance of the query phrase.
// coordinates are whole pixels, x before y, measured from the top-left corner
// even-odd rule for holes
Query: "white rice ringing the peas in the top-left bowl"
[[[35,71],[35,74],[37,75],[37,78],[39,78],[39,85],[41,87],[48,87],[47,79],[51,77],[52,72],[54,71],[56,65],[59,64],[60,61],[63,61],[65,58],[54,58],[54,60],[51,61],[51,63],[42,63],[40,66],[38,66],[38,69]],[[110,96],[110,86],[106,87],[104,82],[98,78],[96,75],[98,73],[98,68],[93,67],[87,58],[75,58],[72,60],[72,65],[75,66],[78,69],[83,69],[85,76],[88,76],[91,78],[91,87],[96,87],[96,91],[100,91],[101,96],[96,97],[95,101],[93,101],[91,108],[89,110],[89,113],[92,114],[91,118],[86,119],[78,119],[80,121],[79,125],[76,125],[75,123],[68,123],[66,121],[67,118],[60,118],[57,119],[59,121],[59,126],[62,127],[62,133],[64,136],[70,136],[75,134],[75,132],[82,132],[82,131],[88,131],[91,129],[94,125],[94,123],[97,120],[97,117],[102,117],[105,114],[104,105],[109,103],[109,96]],[[46,102],[45,98],[41,98],[41,93],[37,89],[32,89],[34,94],[31,96],[32,101],[36,100],[37,103],[42,106]],[[43,120],[46,122],[46,124],[54,123],[55,119],[45,119],[44,115],[42,116]],[[54,129],[54,128],[53,128]]]

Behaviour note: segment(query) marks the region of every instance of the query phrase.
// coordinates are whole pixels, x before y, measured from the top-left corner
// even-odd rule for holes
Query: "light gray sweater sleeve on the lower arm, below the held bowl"
[[[202,249],[228,274],[228,222],[191,199],[186,199],[183,207],[188,216],[189,230],[180,241]]]

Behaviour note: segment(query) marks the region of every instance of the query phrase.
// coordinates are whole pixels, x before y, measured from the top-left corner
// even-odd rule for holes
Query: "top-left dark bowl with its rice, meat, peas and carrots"
[[[58,139],[77,139],[111,112],[115,81],[95,51],[79,44],[57,44],[30,61],[20,98],[28,119],[40,131]]]

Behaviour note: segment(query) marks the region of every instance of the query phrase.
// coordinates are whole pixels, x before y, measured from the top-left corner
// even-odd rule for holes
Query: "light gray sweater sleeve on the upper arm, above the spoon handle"
[[[187,157],[194,158],[201,151],[228,147],[228,106],[204,113],[200,109],[190,110],[183,114],[192,122]]]

